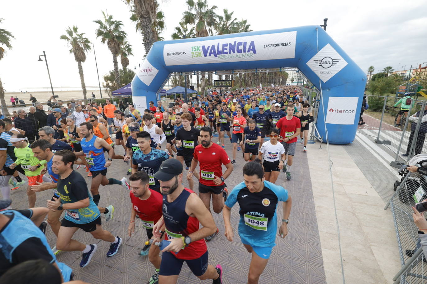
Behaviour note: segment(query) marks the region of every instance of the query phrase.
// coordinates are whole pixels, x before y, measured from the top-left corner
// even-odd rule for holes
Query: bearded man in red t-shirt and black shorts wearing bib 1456
[[[199,197],[206,208],[211,211],[212,196],[213,211],[219,214],[228,195],[224,181],[233,171],[233,165],[227,152],[212,142],[213,136],[210,127],[205,126],[200,129],[200,138],[202,143],[194,148],[193,161],[191,161],[187,179],[193,177],[193,171],[196,169],[197,163],[200,163]],[[224,174],[222,174],[222,165],[227,168]],[[211,241],[218,232],[219,229],[216,228],[216,232],[206,237],[205,240]]]

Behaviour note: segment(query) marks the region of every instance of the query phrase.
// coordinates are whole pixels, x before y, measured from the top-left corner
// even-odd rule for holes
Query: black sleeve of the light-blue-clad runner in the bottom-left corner
[[[43,259],[49,263],[55,261],[47,251],[46,246],[36,237],[27,238],[12,253],[12,261],[14,263],[22,263],[35,259]]]

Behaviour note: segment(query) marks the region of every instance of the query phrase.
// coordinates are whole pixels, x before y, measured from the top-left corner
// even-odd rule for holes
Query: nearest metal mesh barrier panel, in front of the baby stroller
[[[427,179],[418,172],[407,173],[402,179],[384,208],[390,208],[393,215],[402,265],[393,281],[395,284],[426,283],[427,263],[418,237],[418,228],[413,222],[411,206],[426,198]]]

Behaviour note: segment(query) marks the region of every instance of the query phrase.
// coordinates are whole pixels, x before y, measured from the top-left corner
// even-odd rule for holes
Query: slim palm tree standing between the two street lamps
[[[74,59],[77,61],[79,66],[80,82],[82,83],[83,98],[86,99],[86,85],[85,78],[83,77],[82,62],[86,61],[86,52],[91,50],[91,42],[87,37],[84,37],[84,32],[80,33],[76,26],[73,28],[68,27],[65,29],[66,34],[59,37],[61,40],[67,40],[67,45],[71,47],[70,53],[74,54]]]

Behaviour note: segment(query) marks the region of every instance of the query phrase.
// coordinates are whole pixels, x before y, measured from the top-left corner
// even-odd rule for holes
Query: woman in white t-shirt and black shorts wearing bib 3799
[[[281,169],[283,161],[286,159],[285,149],[278,142],[279,131],[273,128],[270,132],[270,140],[263,143],[258,154],[258,158],[263,161],[265,180],[275,183]]]

